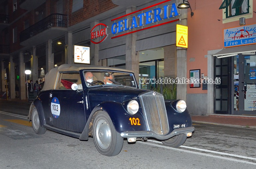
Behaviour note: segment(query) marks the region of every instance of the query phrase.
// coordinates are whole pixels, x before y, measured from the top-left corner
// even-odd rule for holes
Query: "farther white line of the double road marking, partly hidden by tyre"
[[[148,141],[159,143],[159,144],[163,144],[161,141],[156,141],[156,140],[148,140]],[[254,158],[254,157],[247,157],[247,156],[243,156],[243,155],[236,155],[236,154],[230,154],[230,153],[225,153],[225,152],[212,151],[212,150],[207,150],[207,149],[202,149],[202,148],[189,147],[189,146],[185,146],[185,145],[181,145],[180,147],[187,148],[187,149],[198,150],[198,151],[210,152],[210,153],[214,153],[214,154],[238,157],[238,158],[243,158],[243,159],[248,159],[248,160],[255,160],[256,161],[256,158]]]

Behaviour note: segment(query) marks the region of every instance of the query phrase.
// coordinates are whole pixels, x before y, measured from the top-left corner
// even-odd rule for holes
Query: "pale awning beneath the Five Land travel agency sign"
[[[219,52],[215,53],[213,56],[216,56],[217,58],[224,58],[229,56],[236,56],[240,53],[242,53],[243,55],[254,55],[255,52],[256,52],[256,45],[248,45],[248,46],[224,48]]]

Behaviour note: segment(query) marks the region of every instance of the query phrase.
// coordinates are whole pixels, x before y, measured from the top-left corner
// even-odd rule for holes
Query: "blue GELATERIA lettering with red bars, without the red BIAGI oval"
[[[164,4],[169,1],[171,0],[166,0],[160,3],[148,6],[146,8],[137,10],[135,12],[120,16],[118,18],[112,19],[111,21],[115,21],[115,23],[113,23],[111,27],[112,34],[125,32],[127,30],[132,30],[132,31],[111,37],[111,39],[124,36],[127,34],[131,34],[134,32],[138,32],[141,30],[146,30],[146,29],[162,26],[165,24],[169,24],[172,22],[180,21],[180,19],[176,19],[168,22],[162,22],[161,24],[153,24],[153,23],[164,21],[166,19],[173,18],[179,15],[175,3],[172,3],[171,5],[165,5],[163,6],[163,8],[159,8],[159,7],[155,8],[156,6],[160,6],[161,4]],[[135,14],[135,16],[132,17],[131,21],[129,21],[127,17],[133,14]],[[152,26],[148,26],[151,24]],[[137,29],[134,30],[135,28]]]

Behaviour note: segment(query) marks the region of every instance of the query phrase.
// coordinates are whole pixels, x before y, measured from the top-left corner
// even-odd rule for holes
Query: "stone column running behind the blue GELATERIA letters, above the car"
[[[128,8],[126,9],[126,14],[134,12],[135,10],[135,7]],[[133,15],[128,17],[129,22],[132,21],[132,17]],[[136,52],[136,40],[136,32],[126,35],[125,68],[134,71],[137,83],[139,83],[139,55],[137,55]]]

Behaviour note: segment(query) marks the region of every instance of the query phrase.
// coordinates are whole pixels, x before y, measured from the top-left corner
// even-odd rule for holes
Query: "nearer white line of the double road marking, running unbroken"
[[[142,143],[142,144],[148,144],[148,145],[156,146],[156,147],[176,150],[176,151],[182,151],[182,152],[187,152],[187,153],[192,153],[192,154],[197,154],[197,155],[203,155],[203,156],[208,156],[208,157],[219,158],[219,159],[223,159],[223,160],[229,160],[229,161],[235,161],[235,162],[240,162],[240,163],[256,165],[256,163],[249,162],[249,161],[244,161],[244,160],[237,160],[237,159],[233,159],[233,158],[222,157],[222,156],[211,155],[211,154],[205,154],[205,153],[195,152],[195,151],[191,151],[191,150],[184,150],[184,149],[179,149],[179,148],[173,148],[173,147],[168,147],[168,146],[159,145],[159,144],[153,144],[153,143],[149,143],[149,142],[143,142],[143,141],[137,141],[137,142]]]

